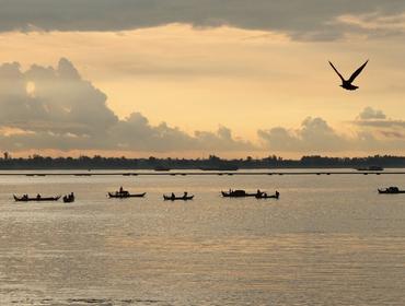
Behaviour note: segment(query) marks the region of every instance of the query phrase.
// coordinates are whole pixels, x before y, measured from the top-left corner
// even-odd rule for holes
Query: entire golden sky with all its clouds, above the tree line
[[[405,155],[405,2],[0,0],[0,150]],[[356,79],[339,87],[328,60]]]

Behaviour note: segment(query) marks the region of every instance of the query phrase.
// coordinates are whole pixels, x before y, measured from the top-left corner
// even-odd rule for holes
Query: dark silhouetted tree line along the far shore
[[[0,169],[257,169],[257,168],[357,168],[368,166],[405,167],[405,156],[374,155],[367,157],[302,156],[298,160],[270,155],[264,158],[225,160],[216,155],[208,158],[127,158],[101,155],[79,157],[50,157],[33,155],[11,157],[4,153]]]

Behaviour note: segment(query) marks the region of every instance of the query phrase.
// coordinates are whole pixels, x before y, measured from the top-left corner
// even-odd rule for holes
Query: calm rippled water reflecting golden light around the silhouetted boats
[[[107,199],[120,185],[147,197]],[[405,175],[0,176],[0,304],[404,305],[405,195],[377,193],[391,185]]]

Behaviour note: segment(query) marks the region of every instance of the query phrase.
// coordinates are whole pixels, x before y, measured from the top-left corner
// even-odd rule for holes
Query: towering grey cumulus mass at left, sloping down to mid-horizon
[[[61,59],[57,68],[0,66],[0,148],[26,150],[244,151],[256,148],[229,129],[190,136],[140,113],[119,119],[107,97]]]

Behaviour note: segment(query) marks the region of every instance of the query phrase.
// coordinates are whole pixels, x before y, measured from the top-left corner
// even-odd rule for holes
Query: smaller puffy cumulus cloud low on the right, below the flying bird
[[[333,129],[324,119],[308,117],[298,129],[276,127],[259,130],[265,148],[279,152],[394,152],[405,149],[405,121],[390,119],[382,110],[366,107],[350,121],[352,133]]]

